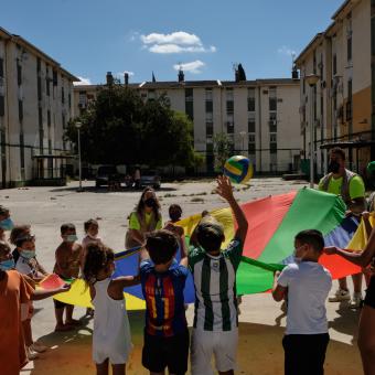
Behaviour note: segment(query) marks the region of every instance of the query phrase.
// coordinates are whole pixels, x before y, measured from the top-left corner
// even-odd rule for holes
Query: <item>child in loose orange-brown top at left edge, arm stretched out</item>
[[[0,363],[1,374],[18,375],[26,364],[21,324],[21,303],[41,300],[69,289],[33,290],[21,274],[12,270],[14,262],[9,245],[0,242]],[[6,309],[3,307],[7,307]]]

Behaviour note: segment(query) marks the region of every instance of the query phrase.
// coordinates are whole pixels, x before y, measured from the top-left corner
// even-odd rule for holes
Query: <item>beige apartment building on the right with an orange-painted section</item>
[[[364,173],[375,160],[375,1],[347,0],[333,22],[297,57],[303,157],[310,159],[314,132],[318,174],[326,172],[328,150],[342,147],[349,167]],[[319,81],[309,87],[306,77]]]

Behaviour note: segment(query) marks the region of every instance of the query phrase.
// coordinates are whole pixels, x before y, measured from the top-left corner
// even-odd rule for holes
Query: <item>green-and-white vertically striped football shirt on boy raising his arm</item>
[[[236,271],[243,244],[234,238],[218,256],[197,247],[189,254],[189,268],[195,285],[194,328],[231,331],[238,326]]]

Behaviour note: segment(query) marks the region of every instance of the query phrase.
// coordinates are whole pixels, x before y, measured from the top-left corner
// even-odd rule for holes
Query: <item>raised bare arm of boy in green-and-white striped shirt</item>
[[[217,178],[216,192],[229,203],[238,226],[235,236],[244,244],[247,234],[248,223],[243,210],[239,207],[236,199],[233,195],[232,184],[227,176],[219,175]]]

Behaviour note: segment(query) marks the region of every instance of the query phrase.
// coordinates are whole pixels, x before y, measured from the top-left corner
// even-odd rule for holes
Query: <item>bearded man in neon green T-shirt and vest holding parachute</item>
[[[335,147],[330,152],[329,173],[319,182],[319,190],[341,195],[347,207],[347,215],[360,215],[366,210],[365,185],[360,175],[345,169],[345,152]],[[362,300],[362,274],[353,275],[354,293],[350,307],[356,309]],[[329,298],[330,302],[351,299],[346,278],[339,280],[339,289]]]

